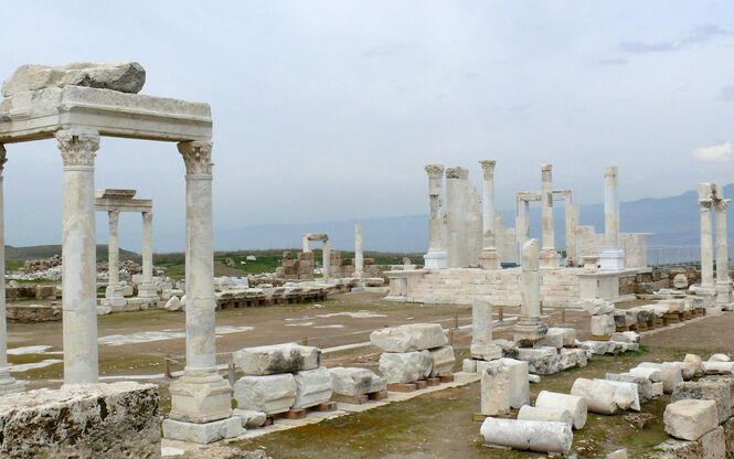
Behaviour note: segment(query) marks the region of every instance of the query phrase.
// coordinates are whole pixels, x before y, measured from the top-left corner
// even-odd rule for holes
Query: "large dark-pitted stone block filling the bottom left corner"
[[[159,458],[158,387],[123,382],[6,395],[0,456]]]

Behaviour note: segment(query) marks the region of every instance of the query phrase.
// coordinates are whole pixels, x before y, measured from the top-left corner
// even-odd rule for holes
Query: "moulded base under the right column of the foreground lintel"
[[[232,416],[230,382],[211,372],[184,371],[171,383],[169,418],[184,423],[205,424]]]

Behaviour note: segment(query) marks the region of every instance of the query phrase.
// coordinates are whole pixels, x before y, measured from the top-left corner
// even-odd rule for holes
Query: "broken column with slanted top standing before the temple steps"
[[[545,337],[547,327],[541,320],[541,273],[539,242],[532,238],[522,246],[522,273],[520,282],[522,300],[520,320],[512,328],[512,339],[521,348],[532,348]]]

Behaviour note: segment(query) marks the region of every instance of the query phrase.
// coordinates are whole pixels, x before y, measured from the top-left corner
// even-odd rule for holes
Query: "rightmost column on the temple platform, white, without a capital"
[[[599,254],[599,269],[625,269],[625,252],[619,246],[619,198],[617,194],[617,167],[604,170],[604,250]]]

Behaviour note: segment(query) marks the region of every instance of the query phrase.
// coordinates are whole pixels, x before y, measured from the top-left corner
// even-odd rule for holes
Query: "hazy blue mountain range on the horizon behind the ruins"
[[[725,196],[734,196],[734,183],[724,188]],[[649,246],[698,245],[699,206],[695,191],[670,198],[646,198],[620,203],[623,232],[652,233]],[[427,206],[427,203],[426,203]],[[508,227],[514,226],[514,210],[502,211]],[[540,206],[532,205],[530,212],[531,235],[540,237]],[[734,209],[728,212],[730,235],[734,231]],[[428,216],[406,215],[385,218],[362,220],[364,248],[392,253],[424,252],[428,247]],[[215,233],[217,250],[297,248],[304,233],[328,233],[333,248],[341,250],[354,247],[355,220],[268,224],[224,230]],[[581,205],[579,224],[592,225],[598,233],[604,231],[604,204]],[[563,205],[555,207],[556,246],[563,247]]]

